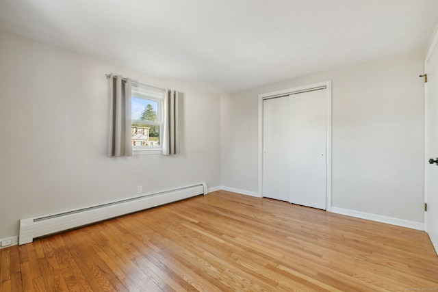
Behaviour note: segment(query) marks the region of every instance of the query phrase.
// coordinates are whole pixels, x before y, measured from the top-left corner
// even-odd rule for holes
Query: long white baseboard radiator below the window
[[[202,194],[207,194],[207,185],[205,183],[62,213],[21,219],[18,244],[31,243],[37,237],[59,233]]]

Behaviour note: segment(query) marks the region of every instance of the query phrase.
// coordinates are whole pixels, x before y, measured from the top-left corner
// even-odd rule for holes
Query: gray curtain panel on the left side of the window
[[[110,98],[110,157],[132,156],[131,142],[131,79],[122,75],[108,77]]]

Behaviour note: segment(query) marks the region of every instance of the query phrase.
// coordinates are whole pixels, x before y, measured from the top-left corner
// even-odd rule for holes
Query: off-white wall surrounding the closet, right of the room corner
[[[333,81],[333,207],[424,222],[424,52],[222,96],[222,185],[257,189],[257,96]]]

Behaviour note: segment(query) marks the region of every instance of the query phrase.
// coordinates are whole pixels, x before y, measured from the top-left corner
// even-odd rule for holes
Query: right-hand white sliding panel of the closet
[[[326,209],[326,90],[289,96],[289,202]]]

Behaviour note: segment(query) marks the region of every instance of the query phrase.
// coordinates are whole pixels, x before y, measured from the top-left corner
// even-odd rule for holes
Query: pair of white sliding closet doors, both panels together
[[[263,100],[263,196],[326,209],[326,90]]]

